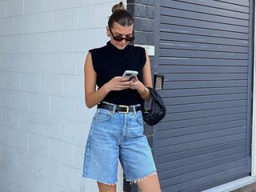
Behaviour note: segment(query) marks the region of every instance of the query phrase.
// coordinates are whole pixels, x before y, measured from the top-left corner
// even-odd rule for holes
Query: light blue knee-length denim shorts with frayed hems
[[[157,174],[143,130],[141,110],[124,114],[98,108],[86,141],[82,177],[116,185],[118,159],[130,183]]]

